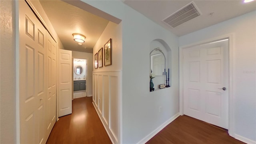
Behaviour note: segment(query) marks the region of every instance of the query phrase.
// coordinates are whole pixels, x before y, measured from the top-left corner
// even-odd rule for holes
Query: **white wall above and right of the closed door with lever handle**
[[[181,36],[179,45],[227,34],[234,34],[234,136],[252,143],[256,141],[256,11]]]

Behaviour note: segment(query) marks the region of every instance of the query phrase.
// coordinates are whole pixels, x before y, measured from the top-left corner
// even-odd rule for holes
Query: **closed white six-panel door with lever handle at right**
[[[228,40],[183,54],[184,114],[228,129]]]

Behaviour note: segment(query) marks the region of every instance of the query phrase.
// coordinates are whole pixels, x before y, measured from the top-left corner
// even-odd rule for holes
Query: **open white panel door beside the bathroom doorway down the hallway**
[[[72,113],[72,51],[58,50],[58,113]]]

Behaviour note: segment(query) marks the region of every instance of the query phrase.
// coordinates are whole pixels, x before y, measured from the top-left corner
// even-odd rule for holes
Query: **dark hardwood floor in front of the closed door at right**
[[[222,128],[189,116],[179,116],[146,144],[245,144]]]

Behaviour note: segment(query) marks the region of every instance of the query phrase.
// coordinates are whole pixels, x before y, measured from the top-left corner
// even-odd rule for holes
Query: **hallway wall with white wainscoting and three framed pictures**
[[[95,55],[112,39],[112,64],[94,68],[93,103],[113,143],[120,143],[120,104],[122,69],[122,24],[109,22],[93,48]],[[93,63],[94,64],[94,63]]]

